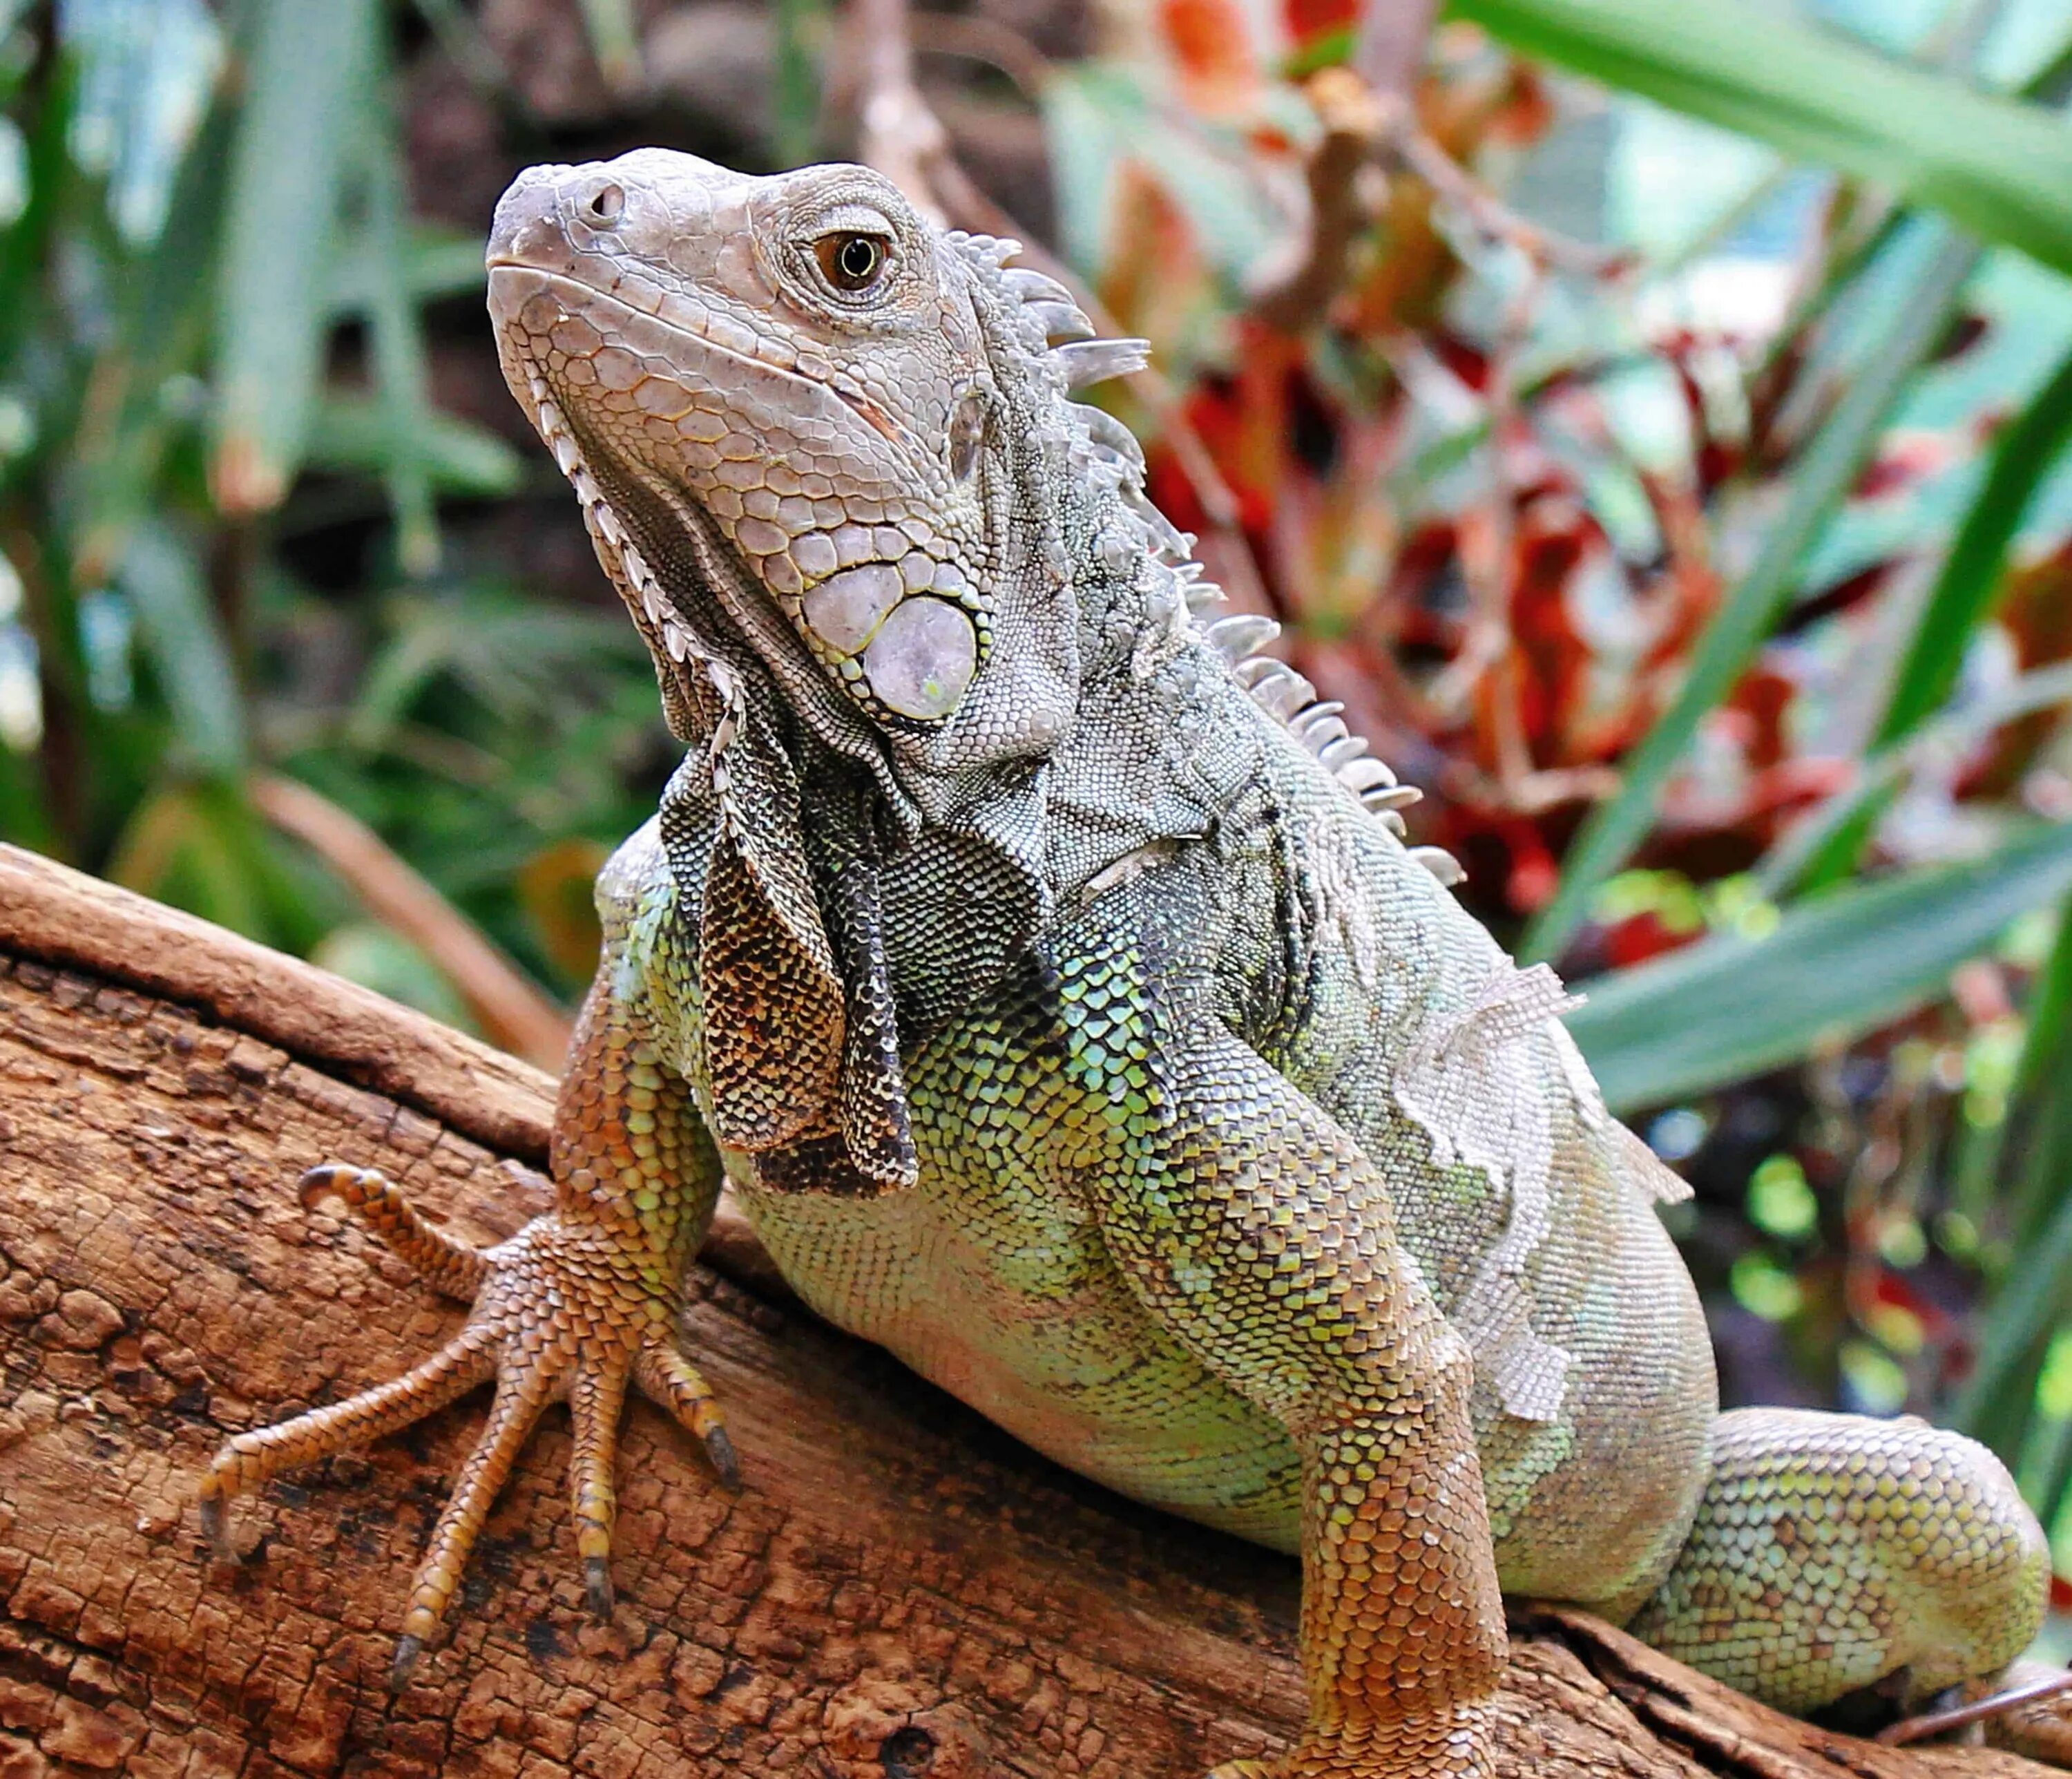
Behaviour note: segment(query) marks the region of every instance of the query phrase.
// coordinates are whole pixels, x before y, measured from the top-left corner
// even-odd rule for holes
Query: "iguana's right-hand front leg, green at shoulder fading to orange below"
[[[1303,1462],[1310,1723],[1285,1760],[1214,1779],[1490,1771],[1504,1611],[1471,1360],[1394,1238],[1380,1171],[1115,925],[1055,962],[1092,1113],[1071,1165],[1102,1240]]]

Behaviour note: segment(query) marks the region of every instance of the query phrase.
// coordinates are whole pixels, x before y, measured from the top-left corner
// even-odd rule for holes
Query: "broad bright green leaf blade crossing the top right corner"
[[[1745,0],[1450,0],[1510,48],[1939,209],[2072,272],[2072,126]]]

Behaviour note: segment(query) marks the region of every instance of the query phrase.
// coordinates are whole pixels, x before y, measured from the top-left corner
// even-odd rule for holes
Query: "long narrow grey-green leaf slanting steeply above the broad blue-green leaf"
[[[1680,17],[1680,15],[1678,15]],[[1912,294],[1801,456],[1784,506],[1749,572],[1705,626],[1676,699],[1627,757],[1618,794],[1591,811],[1562,858],[1554,900],[1525,929],[1519,952],[1550,958],[1575,935],[1589,900],[1647,836],[1656,804],[1697,726],[1740,678],[1798,589],[1798,564],[1848,496],[1906,379],[1944,338],[1958,292],[1979,261],[1977,245],[1941,224],[1923,230],[1925,263]]]

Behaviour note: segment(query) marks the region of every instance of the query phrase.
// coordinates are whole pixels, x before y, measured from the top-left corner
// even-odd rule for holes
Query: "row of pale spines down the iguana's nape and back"
[[[1007,261],[1021,251],[1021,243],[961,232],[949,238],[970,253],[1001,290],[1019,299],[1021,313],[1032,323],[1028,330],[1032,369],[1046,369],[1067,396],[1111,377],[1127,377],[1150,363],[1148,340],[1098,338],[1086,311],[1059,280],[1028,265],[1009,265]],[[1401,811],[1417,802],[1423,792],[1413,784],[1397,784],[1397,775],[1368,753],[1365,740],[1355,736],[1341,717],[1345,705],[1318,701],[1310,680],[1287,661],[1260,653],[1280,634],[1280,626],[1272,618],[1249,612],[1227,618],[1212,616],[1222,603],[1222,589],[1202,576],[1202,564],[1193,560],[1193,537],[1175,529],[1173,520],[1146,496],[1144,448],[1135,433],[1115,415],[1086,402],[1067,400],[1065,413],[1071,421],[1069,462],[1073,471],[1088,481],[1113,487],[1123,506],[1123,523],[1138,533],[1133,539],[1121,539],[1121,547],[1115,549],[1117,566],[1121,566],[1121,558],[1131,554],[1127,545],[1133,543],[1148,549],[1177,587],[1179,597],[1171,601],[1171,612],[1154,610],[1150,628],[1156,632],[1169,624],[1191,622],[1222,655],[1251,701],[1278,717],[1287,732],[1316,755],[1339,784],[1392,834],[1403,836]],[[1158,637],[1146,641],[1156,643]],[[1444,848],[1413,846],[1409,854],[1440,883],[1452,885],[1465,875],[1459,860]]]

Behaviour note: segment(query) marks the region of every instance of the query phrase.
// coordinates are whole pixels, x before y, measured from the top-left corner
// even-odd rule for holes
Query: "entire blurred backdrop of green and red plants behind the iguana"
[[[489,207],[854,151],[905,33],[932,195],[1154,340],[1158,500],[1587,987],[1730,1397],[1952,1418],[2072,1568],[2072,0],[1374,4],[0,0],[0,836],[549,1057],[669,744]]]

